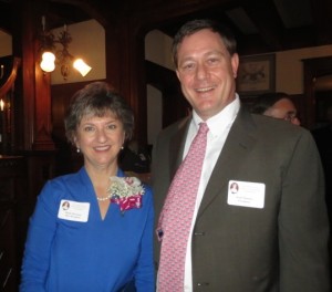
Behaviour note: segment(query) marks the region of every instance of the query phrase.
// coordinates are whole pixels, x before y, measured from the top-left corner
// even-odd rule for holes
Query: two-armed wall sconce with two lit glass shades
[[[42,17],[42,32],[40,34],[40,51],[42,52],[40,67],[42,71],[52,72],[55,70],[55,64],[60,65],[61,75],[66,81],[72,64],[72,66],[84,77],[92,67],[82,59],[75,60],[69,52],[69,44],[72,41],[72,36],[68,32],[66,25],[63,25],[63,31],[60,32],[58,38],[55,38],[51,31],[48,31],[45,27],[45,17]],[[61,50],[55,50],[56,43],[62,45]]]

